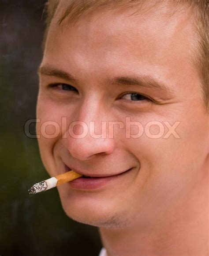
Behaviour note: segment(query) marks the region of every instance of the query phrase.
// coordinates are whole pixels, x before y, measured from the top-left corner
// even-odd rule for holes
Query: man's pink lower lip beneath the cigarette
[[[108,183],[118,181],[129,172],[131,169],[127,170],[126,172],[123,172],[121,174],[117,174],[114,176],[108,176],[108,177],[97,177],[97,178],[78,178],[76,180],[70,181],[68,184],[78,190],[95,190],[101,187],[104,187]]]

